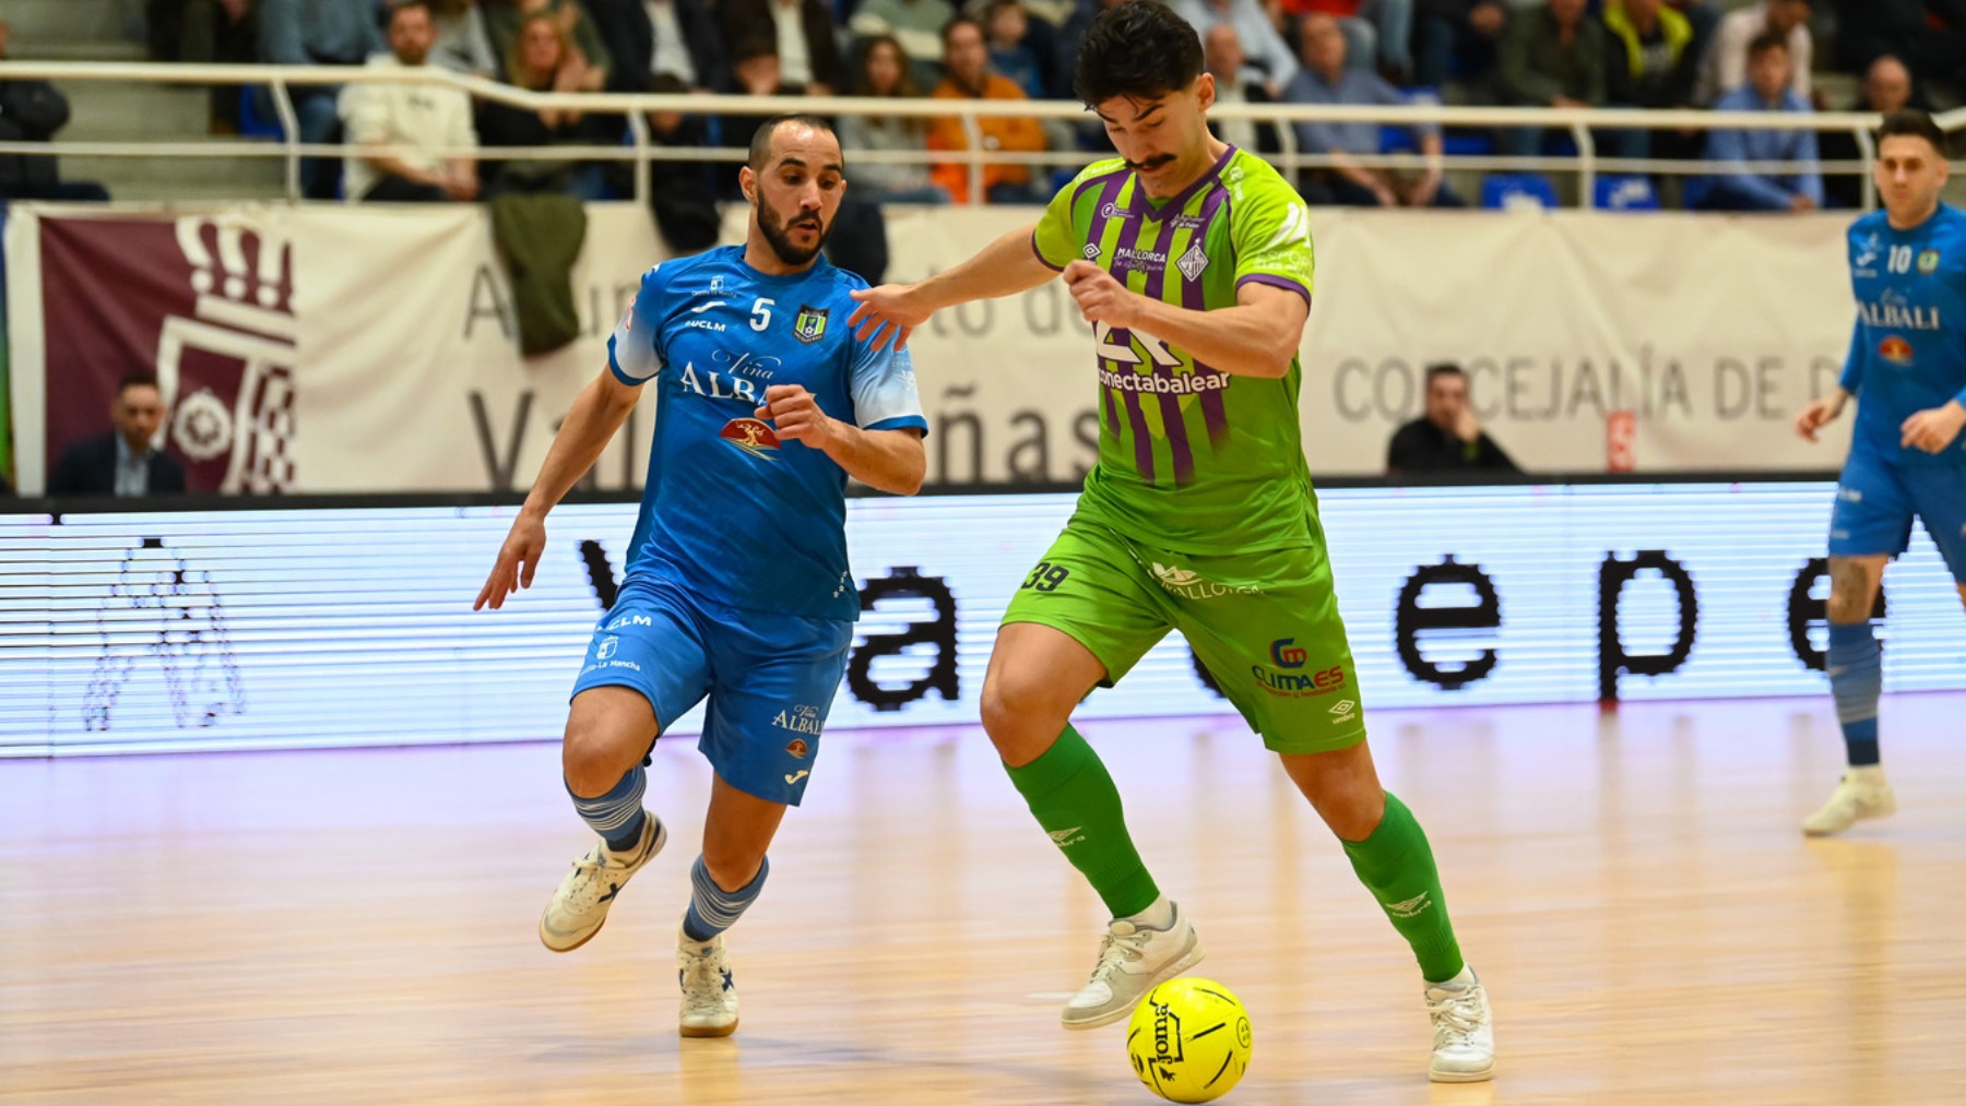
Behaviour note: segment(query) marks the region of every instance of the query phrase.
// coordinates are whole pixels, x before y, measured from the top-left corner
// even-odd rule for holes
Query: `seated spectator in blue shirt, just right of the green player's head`
[[[1408,100],[1384,77],[1345,65],[1345,31],[1331,16],[1303,20],[1303,69],[1290,83],[1284,100],[1292,104],[1398,104]],[[1465,206],[1441,183],[1441,132],[1431,124],[1414,128],[1414,141],[1427,159],[1419,179],[1406,179],[1392,169],[1366,169],[1353,155],[1378,153],[1378,124],[1313,124],[1300,122],[1298,149],[1331,153],[1339,163],[1331,169],[1311,169],[1303,179],[1303,198],[1313,204],[1345,206]]]

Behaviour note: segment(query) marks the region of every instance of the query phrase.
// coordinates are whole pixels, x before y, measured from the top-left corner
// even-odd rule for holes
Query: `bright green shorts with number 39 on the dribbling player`
[[[1003,621],[1070,635],[1105,666],[1107,688],[1178,629],[1264,747],[1351,748],[1364,741],[1359,672],[1315,519],[1311,536],[1305,548],[1195,556],[1134,544],[1079,513]]]

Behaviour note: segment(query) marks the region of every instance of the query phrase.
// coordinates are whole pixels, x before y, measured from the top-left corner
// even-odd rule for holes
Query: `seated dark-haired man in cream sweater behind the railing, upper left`
[[[370,69],[429,65],[436,28],[427,0],[399,0],[389,10],[389,53]],[[356,153],[344,167],[350,200],[472,200],[478,161],[458,149],[478,145],[472,98],[442,84],[350,84],[342,122]]]

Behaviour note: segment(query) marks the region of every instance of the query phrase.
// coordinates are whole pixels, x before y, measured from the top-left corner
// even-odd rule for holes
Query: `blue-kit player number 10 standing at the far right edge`
[[[1944,136],[1925,112],[1878,132],[1883,210],[1850,228],[1856,334],[1840,387],[1795,428],[1817,430],[1858,397],[1850,460],[1830,515],[1828,676],[1850,770],[1803,833],[1842,833],[1897,809],[1878,762],[1881,668],[1870,617],[1883,566],[1925,523],[1966,599],[1966,212],[1938,202]]]

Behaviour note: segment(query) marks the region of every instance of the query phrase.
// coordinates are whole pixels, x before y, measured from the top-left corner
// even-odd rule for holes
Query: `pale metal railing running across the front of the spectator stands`
[[[273,110],[281,122],[279,141],[0,141],[0,153],[55,153],[85,157],[281,157],[285,161],[285,194],[289,202],[301,198],[301,159],[303,157],[348,157],[354,145],[303,143],[299,120],[293,110],[291,88],[295,86],[340,86],[340,84],[442,84],[460,88],[482,100],[493,100],[527,110],[580,110],[586,114],[623,116],[629,141],[625,145],[499,145],[482,149],[431,149],[434,155],[476,155],[495,159],[545,159],[545,161],[627,161],[633,165],[635,198],[649,196],[651,161],[743,161],[747,151],[733,147],[668,149],[651,143],[649,112],[716,114],[716,116],[773,116],[790,108],[824,116],[900,116],[900,118],[959,118],[967,134],[967,151],[851,151],[853,161],[883,165],[936,165],[961,161],[969,171],[969,194],[983,194],[985,165],[1042,165],[1077,167],[1087,161],[1079,149],[1056,149],[1042,153],[1012,153],[983,149],[979,122],[985,118],[1038,118],[1083,122],[1087,110],[1062,100],[895,100],[861,96],[690,96],[690,94],[619,94],[619,92],[531,92],[511,84],[499,84],[480,77],[464,77],[434,67],[423,69],[364,69],[364,67],[324,67],[324,65],[157,65],[157,63],[85,63],[85,61],[0,61],[0,81],[39,79],[39,81],[104,81],[104,83],[151,83],[151,84],[246,84],[265,86],[271,92]],[[1876,114],[1866,112],[1821,112],[1821,114],[1775,114],[1775,112],[1695,112],[1695,110],[1602,110],[1602,108],[1469,108],[1443,104],[1412,106],[1327,106],[1327,104],[1217,104],[1209,112],[1217,120],[1254,120],[1270,124],[1298,122],[1372,122],[1386,126],[1437,124],[1443,128],[1541,128],[1561,130],[1577,145],[1575,157],[1504,157],[1504,155],[1443,155],[1427,159],[1419,153],[1374,153],[1343,155],[1303,153],[1298,149],[1296,132],[1278,126],[1282,153],[1270,161],[1294,173],[1298,169],[1333,167],[1343,163],[1386,169],[1419,169],[1441,165],[1443,169],[1504,171],[1504,173],[1577,173],[1581,206],[1594,204],[1596,177],[1600,173],[1659,173],[1659,175],[1703,175],[1712,173],[1712,161],[1701,159],[1612,159],[1600,157],[1592,130],[1813,130],[1844,132],[1856,139],[1860,159],[1822,161],[1819,169],[1830,173],[1860,173],[1864,181],[1864,208],[1876,206],[1872,185],[1872,130],[1878,126]],[[1946,132],[1966,128],[1966,108],[1956,108],[1937,116]],[[1746,173],[1789,173],[1789,161],[1730,161],[1730,171]]]

